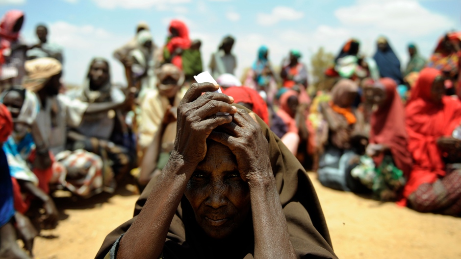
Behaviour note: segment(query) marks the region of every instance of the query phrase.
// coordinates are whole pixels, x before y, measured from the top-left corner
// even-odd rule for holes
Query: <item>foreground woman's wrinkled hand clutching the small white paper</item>
[[[178,125],[172,158],[185,165],[197,166],[206,155],[206,138],[217,126],[232,121],[236,108],[233,98],[210,93],[218,89],[212,83],[192,84],[178,107]],[[202,93],[205,93],[202,95]]]

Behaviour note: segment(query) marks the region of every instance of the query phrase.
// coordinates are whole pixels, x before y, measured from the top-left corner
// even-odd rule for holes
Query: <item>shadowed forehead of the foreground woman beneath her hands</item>
[[[235,156],[229,147],[211,140],[206,141],[206,156],[197,169],[204,171],[229,171],[237,169]]]

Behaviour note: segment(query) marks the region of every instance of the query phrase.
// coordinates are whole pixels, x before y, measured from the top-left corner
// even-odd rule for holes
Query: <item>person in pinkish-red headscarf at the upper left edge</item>
[[[6,12],[0,22],[0,78],[13,78],[13,84],[21,84],[26,74],[26,45],[20,40],[19,31],[24,23],[24,13],[19,10]]]

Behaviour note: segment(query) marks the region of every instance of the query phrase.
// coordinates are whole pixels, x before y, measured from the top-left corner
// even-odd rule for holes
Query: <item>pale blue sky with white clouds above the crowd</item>
[[[191,38],[203,42],[204,65],[223,36],[235,36],[237,75],[262,44],[276,65],[290,48],[299,48],[309,66],[318,47],[336,54],[354,37],[360,52],[373,55],[376,38],[385,35],[405,66],[409,42],[427,57],[441,35],[461,30],[459,0],[0,0],[1,14],[10,9],[25,11],[22,35],[29,43],[37,41],[36,24],[49,26],[50,41],[65,48],[64,78],[77,84],[94,56],[109,58],[112,80],[124,83],[112,51],[133,37],[140,21],[151,26],[158,46],[171,19],[186,22]]]

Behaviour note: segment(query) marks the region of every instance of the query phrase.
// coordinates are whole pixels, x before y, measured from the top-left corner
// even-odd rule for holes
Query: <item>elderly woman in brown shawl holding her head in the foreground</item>
[[[188,90],[161,177],[96,258],[336,258],[302,166],[217,89]]]

